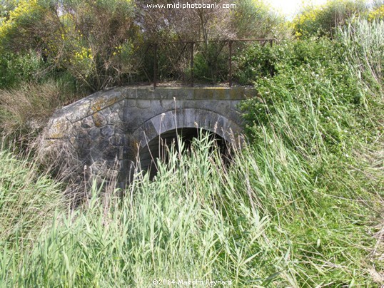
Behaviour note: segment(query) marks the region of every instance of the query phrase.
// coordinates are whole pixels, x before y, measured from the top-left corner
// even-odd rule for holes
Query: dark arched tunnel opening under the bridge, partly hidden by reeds
[[[191,145],[194,138],[199,138],[201,133],[207,133],[209,140],[212,140],[212,149],[217,148],[221,155],[221,158],[227,163],[230,159],[229,145],[227,141],[216,133],[212,133],[208,130],[201,130],[199,128],[178,128],[174,130],[168,130],[156,138],[153,138],[139,151],[139,161],[141,170],[149,173],[151,179],[157,174],[157,159],[167,163],[168,152],[174,145],[174,150],[186,153],[191,150]],[[177,139],[181,139],[183,142],[183,150],[181,151],[181,145],[179,145]]]

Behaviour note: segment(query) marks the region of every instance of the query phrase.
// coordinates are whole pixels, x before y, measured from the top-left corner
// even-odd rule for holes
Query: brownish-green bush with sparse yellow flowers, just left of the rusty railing
[[[60,29],[59,65],[92,90],[120,83],[133,69],[133,4],[126,0],[71,2]]]

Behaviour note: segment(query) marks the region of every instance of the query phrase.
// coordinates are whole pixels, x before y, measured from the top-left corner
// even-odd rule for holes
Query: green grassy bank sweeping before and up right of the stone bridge
[[[0,284],[383,284],[383,36],[383,21],[357,21],[332,41],[281,43],[257,75],[260,48],[246,51],[237,77],[260,94],[243,103],[249,143],[231,165],[202,136],[153,181],[137,175],[123,197],[93,187],[71,210],[4,150]]]

